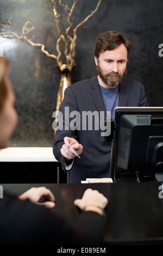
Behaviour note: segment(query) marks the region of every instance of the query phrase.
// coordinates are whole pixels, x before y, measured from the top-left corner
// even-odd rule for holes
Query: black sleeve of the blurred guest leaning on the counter
[[[103,218],[96,212],[82,212],[72,225],[45,206],[6,194],[0,212],[0,245],[96,245],[103,240]]]

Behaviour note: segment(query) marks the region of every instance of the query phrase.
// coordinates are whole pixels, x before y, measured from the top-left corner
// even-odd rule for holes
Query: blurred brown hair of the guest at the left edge
[[[7,99],[8,87],[5,82],[5,75],[9,69],[9,61],[5,57],[0,57],[0,111],[4,107],[4,102]]]

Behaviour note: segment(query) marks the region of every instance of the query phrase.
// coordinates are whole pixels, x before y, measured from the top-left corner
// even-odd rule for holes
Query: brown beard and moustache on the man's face
[[[123,75],[120,75],[118,72],[115,73],[114,71],[111,71],[104,75],[100,66],[96,67],[96,71],[97,71],[97,75],[101,78],[103,83],[105,83],[107,86],[110,86],[110,87],[117,87],[118,84],[122,82],[124,76],[127,74],[127,68],[126,70],[124,70]],[[116,77],[112,77],[112,76],[116,76]]]

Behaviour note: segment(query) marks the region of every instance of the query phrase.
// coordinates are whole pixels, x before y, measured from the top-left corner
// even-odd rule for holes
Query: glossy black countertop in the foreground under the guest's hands
[[[30,187],[46,186],[55,196],[53,212],[74,223],[80,210],[73,201],[86,188],[108,198],[104,216],[104,245],[163,245],[163,193],[161,182],[112,184],[1,184],[3,191],[18,196]],[[3,199],[1,199],[3,200]]]

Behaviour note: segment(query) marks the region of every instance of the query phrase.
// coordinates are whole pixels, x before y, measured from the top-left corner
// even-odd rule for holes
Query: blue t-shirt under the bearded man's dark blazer
[[[116,88],[107,89],[100,86],[106,111],[111,111],[111,117],[114,118],[114,109],[118,107],[119,86]]]

